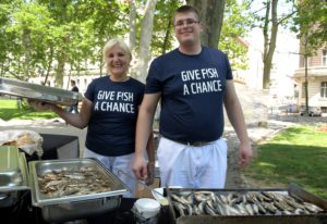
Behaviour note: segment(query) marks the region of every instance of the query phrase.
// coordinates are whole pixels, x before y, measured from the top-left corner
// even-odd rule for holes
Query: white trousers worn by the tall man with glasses
[[[221,138],[206,146],[193,147],[161,137],[157,155],[162,187],[225,187],[227,144]]]

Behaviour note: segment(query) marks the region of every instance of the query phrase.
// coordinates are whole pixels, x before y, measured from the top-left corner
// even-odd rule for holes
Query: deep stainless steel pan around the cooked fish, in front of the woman
[[[32,161],[29,182],[33,206],[41,208],[47,222],[78,220],[118,209],[121,195],[128,187],[96,159]],[[47,196],[40,191],[38,176],[62,169],[93,167],[100,172],[110,184],[110,191],[88,195]]]

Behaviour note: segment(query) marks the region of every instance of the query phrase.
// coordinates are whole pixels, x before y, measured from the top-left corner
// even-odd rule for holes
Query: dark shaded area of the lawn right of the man
[[[296,183],[327,199],[326,161],[327,147],[266,144],[244,175],[266,183]]]

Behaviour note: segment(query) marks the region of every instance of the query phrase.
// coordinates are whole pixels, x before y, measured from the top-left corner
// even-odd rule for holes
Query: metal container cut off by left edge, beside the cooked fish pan
[[[28,171],[24,152],[16,147],[0,147],[0,191],[28,189]]]

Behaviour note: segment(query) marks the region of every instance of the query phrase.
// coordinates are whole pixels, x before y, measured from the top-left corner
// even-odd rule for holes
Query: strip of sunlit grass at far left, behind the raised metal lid
[[[0,99],[0,119],[9,121],[17,120],[39,120],[39,119],[55,119],[58,115],[53,112],[34,111],[32,109],[19,109],[16,100]]]

